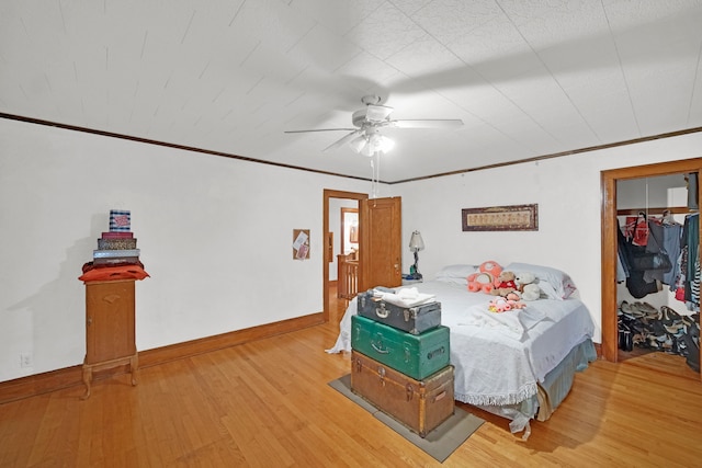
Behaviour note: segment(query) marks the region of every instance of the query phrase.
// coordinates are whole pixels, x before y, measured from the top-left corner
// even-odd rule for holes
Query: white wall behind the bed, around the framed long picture
[[[539,162],[393,186],[403,197],[403,244],[418,229],[426,249],[420,271],[431,278],[446,264],[528,262],[568,272],[601,341],[600,172],[702,156],[702,134],[659,139]],[[469,156],[466,156],[468,158]],[[461,209],[539,204],[539,231],[463,232]],[[412,255],[404,249],[403,264]]]

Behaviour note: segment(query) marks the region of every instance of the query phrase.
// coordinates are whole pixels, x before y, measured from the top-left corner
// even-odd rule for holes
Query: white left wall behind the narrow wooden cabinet
[[[136,305],[148,350],[321,311],[322,191],[370,187],[0,119],[0,381],[82,363],[78,276],[111,208],[132,212],[151,275]],[[310,260],[293,260],[293,229],[310,229]]]

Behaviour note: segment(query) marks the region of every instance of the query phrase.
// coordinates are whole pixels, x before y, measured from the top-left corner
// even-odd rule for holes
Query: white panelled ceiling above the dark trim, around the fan
[[[396,182],[702,127],[702,0],[2,0],[0,113]]]

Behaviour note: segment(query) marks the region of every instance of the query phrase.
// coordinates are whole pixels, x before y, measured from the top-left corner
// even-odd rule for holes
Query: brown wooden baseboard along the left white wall
[[[139,368],[157,366],[171,361],[271,338],[320,323],[324,323],[324,315],[322,312],[317,312],[183,343],[139,351]],[[115,373],[110,375],[125,372],[125,369],[121,367],[116,367],[115,370]],[[82,385],[82,365],[20,377],[0,383],[0,404]]]

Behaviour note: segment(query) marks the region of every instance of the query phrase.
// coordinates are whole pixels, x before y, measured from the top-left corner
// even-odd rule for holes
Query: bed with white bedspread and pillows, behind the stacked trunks
[[[411,287],[441,303],[441,322],[451,329],[455,399],[508,418],[511,432],[523,431],[526,438],[530,421],[548,419],[569,392],[575,373],[595,361],[595,326],[567,274],[526,263],[503,270],[533,273],[541,298],[523,303],[522,309],[489,311],[494,297],[467,288],[466,278],[479,267],[449,265],[434,279]],[[328,353],[351,351],[351,317],[356,308],[354,298]]]

